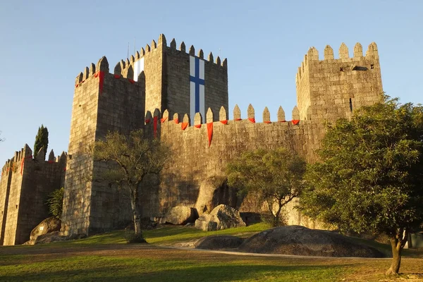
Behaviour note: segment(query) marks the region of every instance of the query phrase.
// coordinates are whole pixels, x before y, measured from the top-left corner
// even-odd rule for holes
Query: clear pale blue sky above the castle
[[[290,117],[295,73],[309,47],[376,42],[384,91],[422,102],[423,1],[1,1],[0,166],[37,128],[49,149],[68,148],[75,77],[107,56],[111,69],[164,33],[228,58],[229,106]],[[206,55],[207,56],[207,55]]]

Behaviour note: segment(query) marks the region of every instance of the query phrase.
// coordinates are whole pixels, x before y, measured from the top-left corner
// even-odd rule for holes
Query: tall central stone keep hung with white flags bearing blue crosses
[[[130,60],[119,62],[114,73],[126,75],[134,73],[134,80],[145,73],[145,110],[162,113],[168,110],[169,116],[178,113],[189,114],[192,119],[200,112],[204,123],[208,108],[217,116],[221,106],[228,109],[228,63],[219,56],[214,60],[212,53],[204,59],[202,49],[195,56],[195,48],[185,51],[181,42],[176,49],[173,39],[169,46],[164,35],[159,36],[145,49],[141,48]]]

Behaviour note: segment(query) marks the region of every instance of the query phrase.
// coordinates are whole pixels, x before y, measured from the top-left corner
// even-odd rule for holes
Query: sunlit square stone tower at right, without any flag
[[[301,120],[348,118],[354,109],[381,101],[381,68],[376,43],[369,44],[363,56],[355,44],[353,57],[341,44],[339,59],[326,45],[324,59],[314,47],[305,55],[296,77],[297,104]]]

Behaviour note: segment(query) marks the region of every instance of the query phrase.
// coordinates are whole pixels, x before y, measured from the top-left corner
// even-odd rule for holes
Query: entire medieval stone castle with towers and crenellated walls
[[[348,118],[354,109],[381,101],[382,85],[376,44],[369,44],[365,56],[357,43],[350,58],[342,44],[339,58],[326,46],[324,58],[314,47],[305,55],[296,74],[297,106],[292,119],[280,107],[276,121],[269,110],[262,113],[263,122],[255,122],[255,109],[250,105],[247,116],[235,106],[228,120],[228,62],[204,59],[200,49],[186,51],[182,42],[166,43],[164,35],[142,48],[130,59],[116,64],[110,73],[103,57],[92,63],[75,80],[68,154],[44,164],[30,157],[29,147],[6,162],[0,180],[0,242],[14,245],[25,242],[31,228],[42,218],[40,206],[30,205],[41,182],[32,179],[48,165],[57,166],[43,179],[55,179],[63,185],[62,231],[92,234],[110,230],[130,221],[128,195],[114,186],[93,180],[106,167],[94,161],[86,148],[104,137],[109,130],[128,134],[144,128],[147,137],[169,142],[172,159],[159,179],[150,180],[140,192],[142,216],[160,217],[170,207],[193,207],[200,184],[214,176],[223,176],[226,163],[241,152],[258,148],[287,147],[315,161],[315,150],[324,135],[324,122]],[[49,158],[49,160],[52,158]],[[65,160],[66,159],[66,160]],[[66,165],[66,168],[61,166]],[[18,167],[13,170],[11,166]],[[39,166],[39,169],[35,169]],[[60,177],[59,177],[60,176]],[[56,177],[56,178],[55,178]],[[42,191],[47,192],[47,186]],[[31,191],[31,192],[28,192]],[[44,195],[39,192],[39,196]],[[38,194],[37,194],[38,195]],[[26,203],[26,204],[25,204]],[[295,205],[295,202],[292,203]],[[248,202],[239,203],[240,211],[252,211]],[[30,212],[28,212],[30,210]],[[44,214],[43,214],[44,215]],[[309,226],[298,212],[288,213],[291,224]],[[25,234],[25,236],[24,236]]]

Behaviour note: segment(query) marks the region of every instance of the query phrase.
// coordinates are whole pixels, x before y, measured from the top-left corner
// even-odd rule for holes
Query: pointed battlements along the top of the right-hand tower
[[[310,61],[317,61],[319,63],[337,63],[337,62],[359,62],[363,59],[369,61],[378,61],[379,53],[377,50],[377,45],[375,42],[369,44],[365,56],[363,56],[362,44],[357,42],[353,48],[353,56],[350,57],[348,47],[345,43],[342,43],[338,49],[338,59],[335,59],[333,56],[333,49],[330,45],[326,45],[324,48],[323,59],[319,59],[319,51],[315,47],[310,47],[307,51],[307,54],[304,56],[304,59],[301,62],[301,66],[298,67],[296,74],[295,82],[298,85],[302,79],[305,71],[308,71],[308,65]]]

